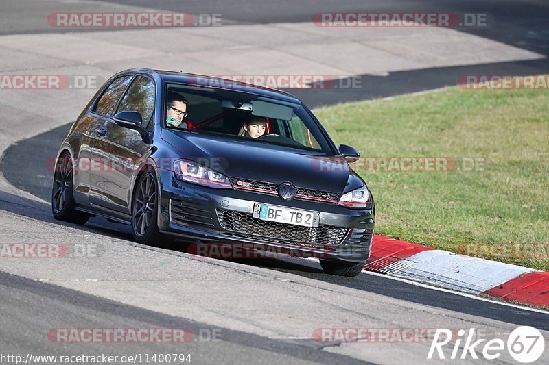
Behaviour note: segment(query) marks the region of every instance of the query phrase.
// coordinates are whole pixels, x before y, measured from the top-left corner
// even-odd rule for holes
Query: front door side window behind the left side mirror
[[[154,82],[148,77],[137,76],[120,101],[118,112],[140,112],[143,127],[149,127],[154,111]]]

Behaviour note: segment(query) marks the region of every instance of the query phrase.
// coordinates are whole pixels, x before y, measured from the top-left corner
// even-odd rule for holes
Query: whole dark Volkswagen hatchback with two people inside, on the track
[[[131,69],[72,125],[51,205],[63,221],[131,225],[141,243],[299,249],[327,273],[354,276],[375,221],[372,194],[348,164],[358,158],[287,92]]]

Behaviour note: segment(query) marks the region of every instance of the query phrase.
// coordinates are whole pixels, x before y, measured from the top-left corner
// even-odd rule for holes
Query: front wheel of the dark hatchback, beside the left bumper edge
[[[159,233],[159,193],[154,173],[141,175],[132,197],[132,236],[136,242],[163,247],[169,241]]]

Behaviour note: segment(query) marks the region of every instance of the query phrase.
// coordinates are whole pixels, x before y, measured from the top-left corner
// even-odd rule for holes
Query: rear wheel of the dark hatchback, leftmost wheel
[[[51,190],[51,212],[59,221],[83,225],[90,218],[89,214],[75,210],[73,192],[73,162],[71,155],[64,152],[56,161],[54,185]]]

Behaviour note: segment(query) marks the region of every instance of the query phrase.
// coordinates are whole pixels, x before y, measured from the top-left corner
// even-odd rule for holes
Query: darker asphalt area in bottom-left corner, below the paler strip
[[[104,354],[120,358],[125,354],[141,354],[143,358],[145,354],[183,354],[185,358],[191,355],[189,364],[254,364],[258,359],[268,359],[266,363],[269,364],[364,364],[352,357],[318,351],[331,344],[314,340],[272,340],[221,329],[1,271],[0,297],[0,328],[3,329],[0,349],[3,354],[27,354],[32,344],[34,355]],[[58,342],[63,337],[51,335],[51,330],[58,328],[185,329],[193,336],[189,342],[177,343],[67,343]]]

